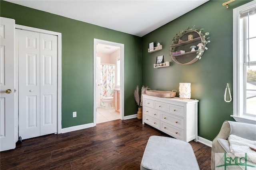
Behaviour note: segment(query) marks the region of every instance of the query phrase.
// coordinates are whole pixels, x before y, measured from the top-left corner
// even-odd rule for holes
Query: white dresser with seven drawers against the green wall
[[[144,123],[182,141],[197,142],[198,100],[158,98],[143,95],[142,124]]]

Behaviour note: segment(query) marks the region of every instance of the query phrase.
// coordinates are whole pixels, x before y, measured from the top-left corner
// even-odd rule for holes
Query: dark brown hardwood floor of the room
[[[23,140],[0,152],[1,170],[139,170],[148,138],[168,136],[141,120],[114,120],[96,127]],[[211,148],[190,141],[200,170],[210,170]]]

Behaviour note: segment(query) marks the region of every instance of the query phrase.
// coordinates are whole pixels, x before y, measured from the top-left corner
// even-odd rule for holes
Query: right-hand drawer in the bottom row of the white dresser
[[[180,140],[184,140],[184,130],[169,125],[167,123],[161,122],[161,131],[177,138]]]

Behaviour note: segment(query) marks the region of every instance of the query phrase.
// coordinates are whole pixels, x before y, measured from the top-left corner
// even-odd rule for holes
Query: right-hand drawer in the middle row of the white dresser
[[[180,129],[184,129],[184,119],[181,117],[170,115],[169,113],[161,113],[161,121]]]

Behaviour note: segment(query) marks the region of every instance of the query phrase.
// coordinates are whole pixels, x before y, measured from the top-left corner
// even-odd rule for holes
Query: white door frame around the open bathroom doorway
[[[124,119],[124,44],[115,43],[111,41],[105,41],[101,39],[93,39],[93,94],[96,94],[96,69],[97,69],[97,58],[96,58],[96,45],[97,43],[118,46],[121,48],[121,98],[120,98],[120,119]],[[96,114],[96,95],[93,95],[93,124],[96,126],[97,114]]]

